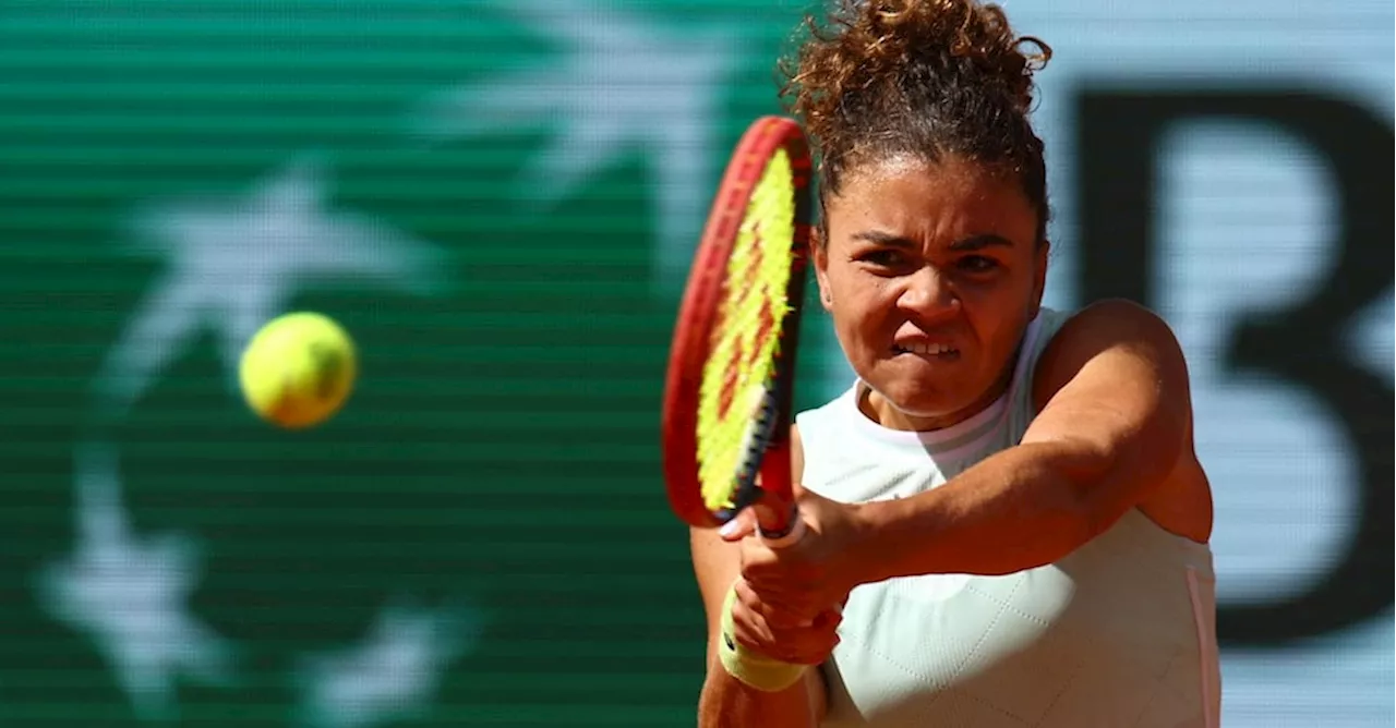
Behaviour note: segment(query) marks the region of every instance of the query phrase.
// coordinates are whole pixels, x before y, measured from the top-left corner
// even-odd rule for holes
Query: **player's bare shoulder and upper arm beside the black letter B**
[[[1023,442],[1069,443],[1101,469],[1089,494],[1115,516],[1174,470],[1192,421],[1188,370],[1168,325],[1129,301],[1093,304],[1043,351]]]

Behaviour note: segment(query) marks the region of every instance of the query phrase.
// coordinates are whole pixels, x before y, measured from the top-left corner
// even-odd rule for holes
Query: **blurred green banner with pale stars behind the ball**
[[[572,42],[625,8],[0,6],[0,724],[691,721],[704,622],[656,434],[677,283],[655,280],[645,198],[692,152],[711,194],[778,109],[794,15],[644,10],[646,45],[745,21],[740,59],[618,73],[644,106],[711,81],[709,146],[666,138],[708,120],[632,113],[539,205],[519,170],[560,179],[588,151],[550,144],[606,109],[501,82],[585,74]],[[501,89],[518,116],[477,124]],[[289,310],[362,354],[348,409],[307,432],[257,421],[229,378]],[[66,621],[80,593],[95,616]],[[335,693],[356,653],[380,660]]]

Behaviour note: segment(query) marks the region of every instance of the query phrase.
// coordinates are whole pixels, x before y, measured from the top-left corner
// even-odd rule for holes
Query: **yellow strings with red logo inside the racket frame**
[[[730,508],[757,410],[775,375],[794,237],[790,158],[778,152],[752,190],[727,262],[698,395],[698,480],[709,510]]]

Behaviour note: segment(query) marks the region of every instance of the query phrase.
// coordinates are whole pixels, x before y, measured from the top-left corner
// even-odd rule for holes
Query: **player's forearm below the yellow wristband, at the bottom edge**
[[[818,725],[818,674],[776,693],[748,688],[715,660],[698,700],[698,728],[814,728]]]

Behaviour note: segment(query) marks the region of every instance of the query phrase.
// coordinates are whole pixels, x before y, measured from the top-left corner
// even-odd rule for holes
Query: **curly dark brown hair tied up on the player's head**
[[[838,0],[803,26],[779,66],[782,96],[818,152],[821,201],[860,162],[955,155],[1015,174],[1046,240],[1047,170],[1029,113],[1047,43],[1015,36],[1001,7],[977,0]]]

